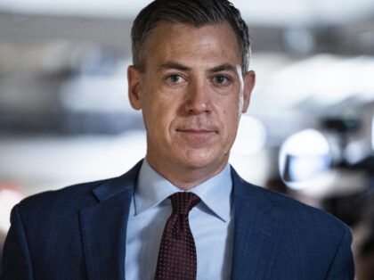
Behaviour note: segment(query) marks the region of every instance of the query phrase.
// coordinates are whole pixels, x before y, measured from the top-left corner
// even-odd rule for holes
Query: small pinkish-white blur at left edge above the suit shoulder
[[[23,195],[12,184],[0,187],[0,230],[7,232],[11,226],[10,215],[12,207],[23,199]]]

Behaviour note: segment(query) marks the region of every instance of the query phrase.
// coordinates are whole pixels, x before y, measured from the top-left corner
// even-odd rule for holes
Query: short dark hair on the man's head
[[[131,30],[133,63],[137,70],[145,70],[150,37],[159,21],[191,24],[196,28],[227,21],[238,39],[243,73],[248,70],[251,45],[248,26],[239,10],[227,0],[156,0],[143,8]]]

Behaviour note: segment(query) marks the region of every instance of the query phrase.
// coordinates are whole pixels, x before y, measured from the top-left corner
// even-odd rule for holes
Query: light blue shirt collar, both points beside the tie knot
[[[181,191],[181,189],[152,169],[148,161],[144,159],[134,192],[135,215],[139,215],[143,211],[158,205],[171,194]],[[215,177],[196,185],[190,192],[199,195],[207,209],[213,211],[218,218],[224,221],[230,219],[232,176],[229,164]]]

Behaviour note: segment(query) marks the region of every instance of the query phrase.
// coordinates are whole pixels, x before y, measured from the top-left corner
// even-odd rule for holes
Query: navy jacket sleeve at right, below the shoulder
[[[326,280],[354,280],[354,257],[351,250],[352,234],[346,228],[332,259]]]

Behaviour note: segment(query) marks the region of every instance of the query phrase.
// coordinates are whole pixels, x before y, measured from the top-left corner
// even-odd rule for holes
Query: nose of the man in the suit
[[[191,83],[186,93],[185,111],[191,115],[209,113],[212,104],[209,97],[209,86],[203,81]]]

